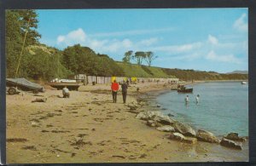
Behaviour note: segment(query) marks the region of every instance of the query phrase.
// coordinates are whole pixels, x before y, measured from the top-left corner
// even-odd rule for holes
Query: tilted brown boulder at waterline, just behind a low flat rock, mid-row
[[[187,136],[196,136],[195,129],[192,129],[188,124],[185,123],[180,123],[180,122],[175,122],[173,124],[174,129],[183,135]]]

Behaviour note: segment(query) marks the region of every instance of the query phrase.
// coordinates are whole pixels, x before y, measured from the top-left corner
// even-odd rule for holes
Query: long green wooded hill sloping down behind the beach
[[[94,50],[79,44],[64,50],[52,48],[38,42],[41,36],[37,31],[37,17],[35,10],[7,10],[7,77],[26,77],[44,81],[55,77],[71,78],[76,74],[108,77],[177,77],[187,81],[248,78],[247,74],[197,72],[117,62],[108,57],[108,54],[96,54]]]

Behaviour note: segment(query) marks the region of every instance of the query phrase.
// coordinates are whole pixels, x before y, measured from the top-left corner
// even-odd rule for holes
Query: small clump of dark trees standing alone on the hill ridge
[[[133,51],[127,51],[125,52],[123,62],[124,63],[131,63],[131,60],[135,60],[137,65],[142,65],[143,60],[148,64],[148,66],[152,65],[152,61],[155,60],[158,56],[154,55],[152,51],[143,52],[143,51],[137,51],[135,54],[133,54]]]

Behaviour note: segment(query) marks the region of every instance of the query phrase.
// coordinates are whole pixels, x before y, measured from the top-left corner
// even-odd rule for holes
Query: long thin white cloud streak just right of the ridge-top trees
[[[152,48],[154,51],[165,51],[169,54],[180,54],[189,52],[195,49],[200,49],[202,47],[202,43],[188,43],[183,45],[170,45],[170,46],[160,46]]]

